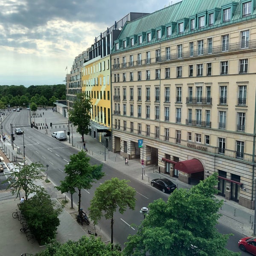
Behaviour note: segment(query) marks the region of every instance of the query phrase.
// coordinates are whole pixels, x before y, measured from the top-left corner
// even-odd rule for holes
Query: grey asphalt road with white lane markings
[[[10,134],[10,123],[13,127],[20,127],[24,131],[24,145],[25,145],[25,155],[26,158],[32,162],[41,162],[44,166],[47,164],[48,167],[48,177],[52,180],[55,185],[60,184],[60,180],[64,180],[64,166],[69,162],[70,155],[76,154],[76,148],[68,146],[49,135],[42,134],[37,131],[35,128],[22,127],[29,125],[29,111],[22,110],[20,112],[11,112],[7,116],[5,122],[3,122],[4,131],[8,131]],[[19,146],[23,151],[23,135],[15,135],[15,145]],[[90,157],[91,164],[101,164],[99,160],[96,160],[93,157]],[[127,179],[131,182],[130,186],[136,189],[136,208],[134,211],[127,209],[124,214],[119,214],[116,212],[114,215],[114,242],[119,243],[124,247],[125,241],[129,234],[133,235],[137,232],[135,225],[140,225],[140,222],[143,220],[143,215],[140,214],[140,209],[142,207],[147,207],[150,202],[157,200],[158,198],[163,198],[164,200],[168,199],[167,194],[163,194],[160,190],[157,190],[150,185],[141,183],[138,180],[131,178],[128,175],[123,174],[122,172],[113,169],[111,166],[107,166],[103,163],[102,167],[105,176],[99,180],[99,182],[94,183],[93,187],[90,190],[82,190],[81,192],[81,206],[83,209],[87,209],[90,205],[90,200],[93,198],[94,191],[97,186],[104,183],[105,180],[110,179],[111,177],[118,177],[119,179]],[[78,202],[78,193],[73,195],[73,200],[75,203]],[[111,237],[111,228],[110,220],[102,220],[99,222],[99,227],[105,232],[108,237]],[[218,230],[221,233],[233,233],[234,236],[230,237],[227,248],[229,250],[239,252],[237,247],[238,240],[243,237],[240,233],[230,229],[227,226],[218,224]],[[243,256],[250,255],[248,253],[242,252]]]

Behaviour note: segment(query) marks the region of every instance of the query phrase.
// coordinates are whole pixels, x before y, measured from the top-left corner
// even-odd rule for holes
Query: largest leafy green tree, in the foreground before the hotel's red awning
[[[149,214],[137,234],[128,236],[125,256],[238,256],[225,248],[229,235],[218,233],[216,224],[223,204],[215,198],[217,173],[197,186],[175,189],[168,201],[149,204]]]

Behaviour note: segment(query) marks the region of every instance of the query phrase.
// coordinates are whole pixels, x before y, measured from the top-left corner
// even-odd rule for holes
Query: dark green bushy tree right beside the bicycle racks
[[[60,224],[58,215],[62,212],[62,207],[52,201],[43,188],[38,189],[28,201],[20,204],[20,210],[39,244],[43,245],[56,237]]]

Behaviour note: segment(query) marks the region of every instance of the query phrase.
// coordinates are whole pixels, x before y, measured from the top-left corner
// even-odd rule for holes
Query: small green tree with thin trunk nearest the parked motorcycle
[[[81,208],[81,189],[90,189],[92,183],[101,179],[105,174],[102,172],[102,164],[91,165],[90,157],[86,156],[85,151],[80,151],[70,157],[69,164],[65,165],[66,177],[61,180],[61,185],[56,188],[64,192],[70,192],[73,195],[78,189],[79,207]]]

